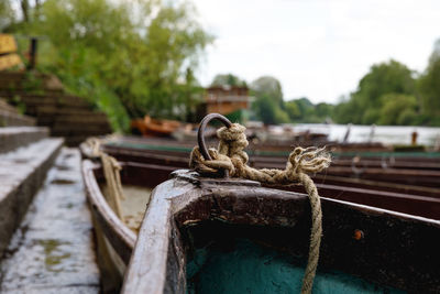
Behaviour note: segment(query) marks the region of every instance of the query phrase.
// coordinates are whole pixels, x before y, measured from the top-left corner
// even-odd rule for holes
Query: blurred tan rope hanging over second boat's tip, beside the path
[[[117,216],[124,221],[122,214],[121,199],[125,199],[122,190],[121,175],[120,172],[122,166],[119,162],[101,151],[101,140],[97,138],[89,138],[86,141],[86,145],[89,148],[89,156],[100,157],[102,163],[103,175],[109,188],[109,203],[113,207]]]

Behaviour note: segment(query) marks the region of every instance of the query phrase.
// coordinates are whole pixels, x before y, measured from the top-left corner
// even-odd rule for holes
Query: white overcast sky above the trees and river
[[[198,77],[278,78],[285,99],[337,102],[374,63],[425,69],[440,37],[439,0],[193,0],[216,36]]]

